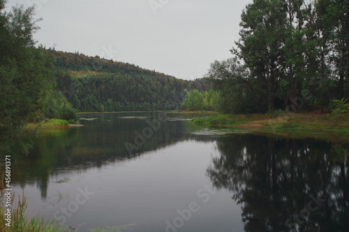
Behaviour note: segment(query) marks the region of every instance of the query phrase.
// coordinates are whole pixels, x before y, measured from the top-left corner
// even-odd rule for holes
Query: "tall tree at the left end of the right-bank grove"
[[[268,109],[275,109],[276,83],[283,69],[285,10],[279,0],[254,0],[242,13],[242,30],[236,42],[238,54],[251,74],[267,88]]]

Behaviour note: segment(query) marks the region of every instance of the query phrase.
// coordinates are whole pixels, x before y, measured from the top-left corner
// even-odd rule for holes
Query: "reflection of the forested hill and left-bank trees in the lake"
[[[29,155],[18,155],[13,164],[12,183],[22,188],[36,185],[45,199],[50,176],[102,168],[110,162],[128,162],[148,151],[161,150],[179,141],[214,140],[214,137],[191,134],[197,126],[181,115],[181,118],[174,118],[176,120],[162,122],[142,146],[129,153],[125,143],[134,143],[137,132],[142,133],[149,127],[145,119],[153,121],[158,117],[155,112],[134,114],[87,115],[84,118],[98,119],[82,121],[83,127],[42,130],[42,136],[35,140]]]

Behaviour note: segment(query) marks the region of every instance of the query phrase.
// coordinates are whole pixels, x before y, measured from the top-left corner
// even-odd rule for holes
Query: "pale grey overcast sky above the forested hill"
[[[232,56],[252,0],[8,0],[36,4],[38,44],[133,63],[180,79],[200,78]]]

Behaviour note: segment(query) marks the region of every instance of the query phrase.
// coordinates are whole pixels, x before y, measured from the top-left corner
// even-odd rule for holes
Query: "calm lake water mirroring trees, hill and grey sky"
[[[13,162],[29,215],[78,231],[349,231],[348,137],[205,129],[187,114],[81,116],[96,119],[43,130]]]

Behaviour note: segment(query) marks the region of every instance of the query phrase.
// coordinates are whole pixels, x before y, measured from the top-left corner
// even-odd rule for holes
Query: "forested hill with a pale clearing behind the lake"
[[[205,79],[188,81],[79,53],[48,49],[61,91],[77,111],[151,111],[179,109],[186,91],[207,91]]]

